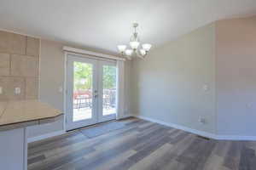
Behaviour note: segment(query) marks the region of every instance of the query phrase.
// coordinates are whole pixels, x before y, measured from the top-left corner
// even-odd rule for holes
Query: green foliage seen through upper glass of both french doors
[[[92,65],[74,62],[74,90],[86,90],[92,87]],[[114,66],[103,66],[103,88],[116,87],[116,69]]]

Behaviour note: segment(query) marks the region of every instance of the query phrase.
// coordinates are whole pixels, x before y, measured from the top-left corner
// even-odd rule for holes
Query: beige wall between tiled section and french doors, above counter
[[[64,52],[59,42],[41,40],[39,97],[63,111]]]

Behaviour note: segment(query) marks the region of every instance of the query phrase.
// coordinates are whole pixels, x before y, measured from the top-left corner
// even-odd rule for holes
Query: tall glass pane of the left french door
[[[92,67],[73,62],[73,122],[92,117]]]

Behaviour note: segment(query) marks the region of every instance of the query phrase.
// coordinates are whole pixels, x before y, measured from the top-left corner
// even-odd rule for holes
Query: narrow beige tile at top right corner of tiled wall
[[[38,38],[26,37],[26,55],[39,56],[40,42]]]

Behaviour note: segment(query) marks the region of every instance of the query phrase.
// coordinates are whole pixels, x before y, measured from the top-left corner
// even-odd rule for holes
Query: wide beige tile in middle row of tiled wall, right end
[[[12,54],[11,76],[38,77],[38,58]]]

